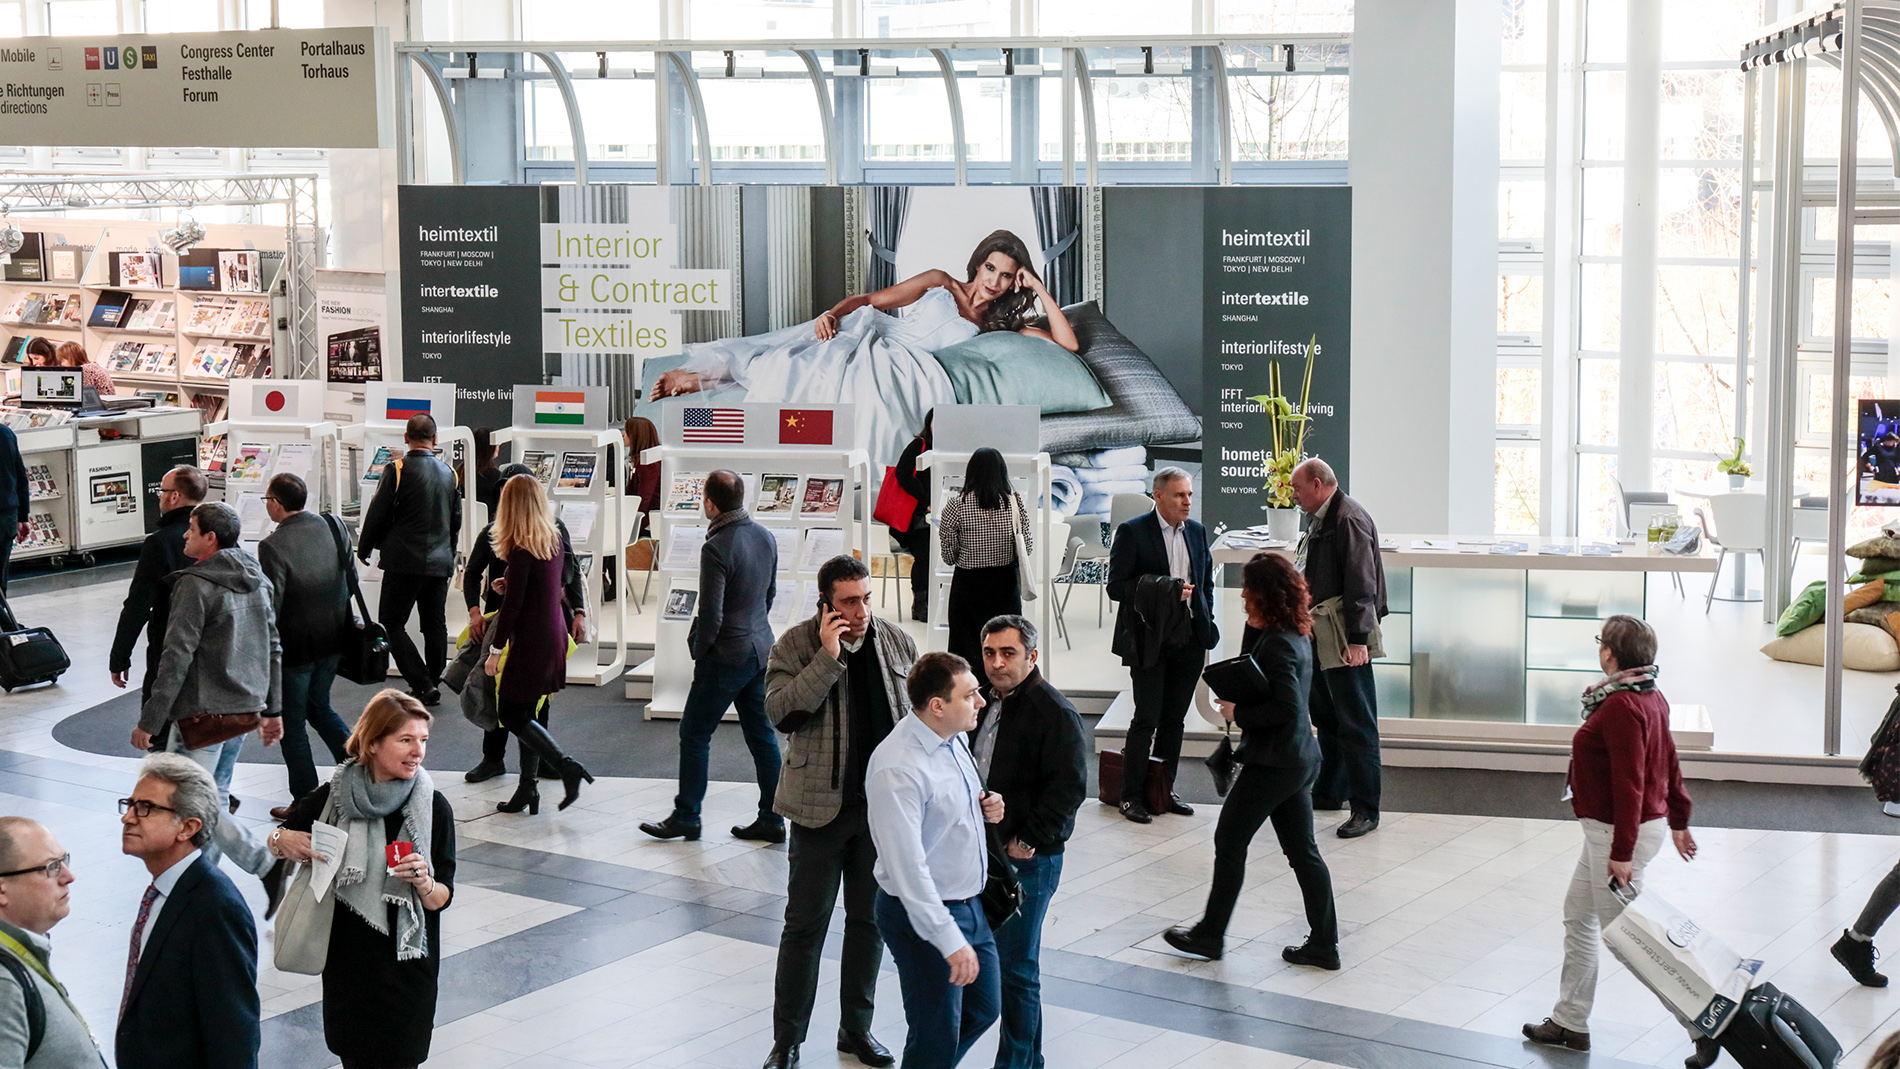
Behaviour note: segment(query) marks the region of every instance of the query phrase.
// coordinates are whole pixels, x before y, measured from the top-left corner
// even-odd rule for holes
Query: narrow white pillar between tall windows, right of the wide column
[[[1655,482],[1657,186],[1662,163],[1662,0],[1628,0],[1623,78],[1623,361],[1617,370],[1617,478]]]

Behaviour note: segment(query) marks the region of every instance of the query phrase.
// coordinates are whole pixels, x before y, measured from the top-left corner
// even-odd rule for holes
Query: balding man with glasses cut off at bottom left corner
[[[51,930],[72,911],[70,860],[38,820],[0,816],[0,1065],[103,1069],[106,1063],[80,1008],[53,978]]]

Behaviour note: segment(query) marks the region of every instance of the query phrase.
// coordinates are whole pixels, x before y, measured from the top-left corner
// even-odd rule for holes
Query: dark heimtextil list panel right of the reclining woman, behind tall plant
[[[1279,397],[1290,408],[1305,397],[1302,452],[1330,463],[1351,492],[1351,196],[1343,186],[1206,190],[1201,518],[1210,530],[1267,522],[1273,420],[1252,399],[1273,395],[1273,365]]]

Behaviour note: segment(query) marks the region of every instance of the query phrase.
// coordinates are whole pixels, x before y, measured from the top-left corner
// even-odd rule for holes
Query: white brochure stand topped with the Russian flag
[[[382,450],[390,450],[384,461],[401,459],[408,452],[408,446],[403,444],[403,427],[416,412],[428,412],[435,418],[435,446],[443,450],[443,461],[456,469],[462,494],[462,530],[456,532],[456,570],[450,575],[448,600],[443,606],[445,619],[448,621],[448,653],[452,657],[456,634],[462,632],[462,625],[467,621],[467,613],[462,610],[464,598],[458,592],[462,566],[475,545],[475,534],[483,528],[483,509],[475,501],[475,435],[467,427],[456,425],[456,385],[452,382],[365,384],[363,422],[340,427],[332,442],[334,463],[331,471],[334,473],[334,482],[331,486],[331,499],[338,501],[338,518],[344,518],[344,501],[357,499],[361,503],[355,513],[353,532],[353,537],[361,537],[363,518],[369,515],[369,501],[376,496],[378,484],[376,478],[361,478],[361,475],[369,473]],[[352,473],[350,465],[344,463],[344,446],[363,450],[361,473]],[[462,456],[462,465],[454,463],[456,454]],[[357,475],[355,488],[350,486],[352,475]],[[376,554],[374,564],[376,568],[361,570],[361,587],[363,600],[370,606],[370,611],[380,611],[382,554]],[[428,647],[422,640],[422,613],[408,615],[408,640],[428,657]],[[390,676],[401,676],[393,659],[390,661]]]

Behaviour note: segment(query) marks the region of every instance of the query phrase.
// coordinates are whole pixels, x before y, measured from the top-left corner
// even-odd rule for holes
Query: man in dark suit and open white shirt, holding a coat
[[[1155,511],[1115,530],[1108,556],[1108,596],[1115,611],[1113,651],[1132,670],[1134,718],[1121,752],[1121,815],[1148,824],[1148,754],[1167,763],[1168,782],[1182,758],[1188,704],[1206,651],[1220,642],[1214,623],[1214,556],[1206,528],[1188,518],[1193,478],[1178,467],[1155,473]],[[1178,592],[1176,592],[1178,591]],[[1180,610],[1174,608],[1180,600]],[[1186,610],[1186,619],[1180,611]],[[1168,813],[1193,807],[1168,796]]]

